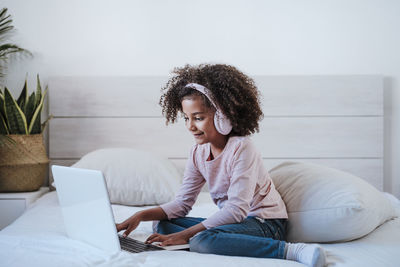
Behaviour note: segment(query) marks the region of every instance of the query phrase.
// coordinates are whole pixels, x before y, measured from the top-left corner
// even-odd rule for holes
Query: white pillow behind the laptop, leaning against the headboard
[[[113,204],[159,205],[172,200],[181,174],[168,160],[130,148],[99,149],[72,167],[103,172]]]

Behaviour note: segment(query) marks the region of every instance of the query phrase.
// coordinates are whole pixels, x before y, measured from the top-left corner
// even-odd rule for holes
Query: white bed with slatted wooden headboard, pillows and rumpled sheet
[[[167,78],[52,77],[49,81],[49,108],[54,116],[49,128],[51,164],[104,166],[104,161],[99,161],[98,151],[104,156],[110,155],[107,154],[110,151],[120,153],[117,148],[129,148],[136,152],[148,151],[156,157],[149,156],[146,162],[140,162],[122,153],[121,159],[115,157],[114,161],[107,162],[108,166],[122,164],[124,159],[148,168],[157,162],[157,166],[166,166],[163,171],[180,176],[193,141],[182,122],[167,127],[160,116],[159,89]],[[290,209],[289,218],[293,222],[289,238],[321,243],[326,249],[327,266],[399,266],[400,202],[382,192],[386,184],[383,177],[382,77],[255,76],[254,79],[263,95],[265,118],[260,133],[252,139]],[[131,155],[134,156],[137,157]],[[321,180],[321,170],[325,180]],[[112,168],[103,171],[110,177],[106,179],[114,175]],[[161,192],[162,187],[154,189],[155,184],[168,179],[160,180],[157,175],[143,179],[146,168],[142,171],[135,177],[143,183],[141,188],[150,186],[149,192]],[[327,184],[326,179],[334,181],[333,184]],[[290,188],[296,186],[298,180],[317,187],[321,182],[319,188],[325,187],[319,194],[311,191],[311,186],[302,186],[293,193]],[[52,183],[51,173],[48,183]],[[176,187],[171,182],[168,186]],[[133,201],[130,205],[122,205],[124,201],[121,201],[118,187],[111,192],[109,189],[109,193],[117,222],[151,207],[150,200],[165,201],[155,199],[154,195],[141,195],[130,199]],[[298,201],[299,195],[307,194],[317,201]],[[350,202],[339,203],[335,198],[357,202],[358,206],[349,209],[346,205]],[[149,201],[138,202],[143,199]],[[335,210],[329,210],[329,216],[326,213],[325,217],[321,217],[321,213],[311,215],[319,216],[313,218],[318,218],[318,224],[326,227],[321,233],[317,231],[318,225],[312,229],[302,224],[310,216],[307,212],[326,210],[324,205],[332,200],[336,206]],[[315,205],[322,206],[316,208]],[[299,210],[304,207],[308,210]],[[204,188],[189,215],[207,217],[216,209]],[[349,227],[343,232],[340,225],[346,224]],[[131,235],[144,239],[151,232],[152,223],[142,222]],[[343,232],[343,236],[339,232]],[[304,266],[278,259],[186,251],[139,254],[123,251],[106,255],[66,236],[55,191],[42,196],[20,218],[0,231],[0,259],[0,266]]]

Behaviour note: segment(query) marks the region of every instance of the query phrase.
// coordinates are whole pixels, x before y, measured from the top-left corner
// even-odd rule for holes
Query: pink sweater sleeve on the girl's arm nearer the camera
[[[258,164],[261,163],[258,157],[251,142],[243,142],[235,152],[228,199],[219,211],[202,222],[207,229],[238,223],[247,217],[257,184]]]

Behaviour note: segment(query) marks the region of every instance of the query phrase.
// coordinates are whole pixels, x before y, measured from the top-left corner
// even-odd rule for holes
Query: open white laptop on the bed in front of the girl
[[[124,250],[187,249],[187,245],[160,247],[117,234],[106,183],[101,171],[52,166],[67,235],[110,253]]]

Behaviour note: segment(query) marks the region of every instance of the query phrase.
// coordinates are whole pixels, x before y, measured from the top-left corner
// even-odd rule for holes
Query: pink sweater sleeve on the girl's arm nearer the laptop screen
[[[196,148],[196,145],[193,146],[190,152],[190,157],[188,158],[183,174],[182,185],[175,199],[160,205],[169,220],[185,217],[189,213],[205,183],[204,177],[195,165]]]

